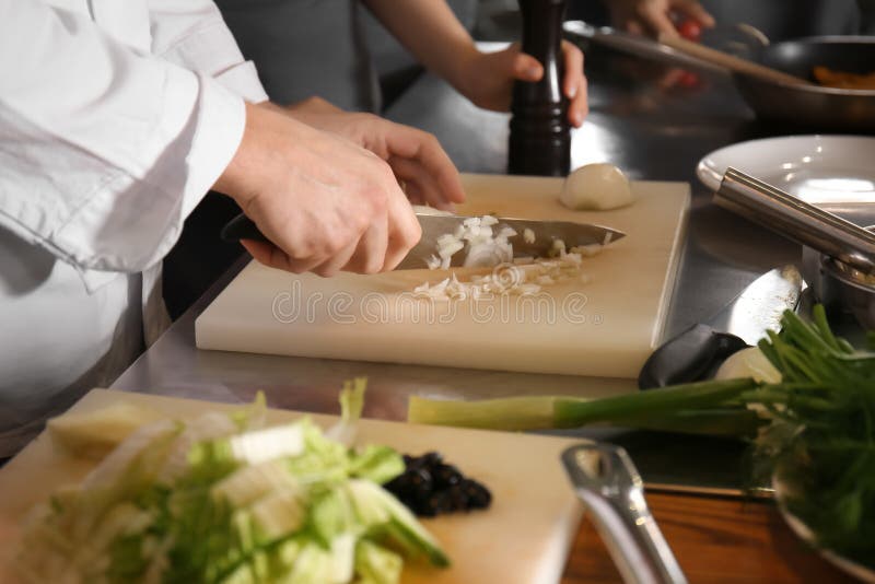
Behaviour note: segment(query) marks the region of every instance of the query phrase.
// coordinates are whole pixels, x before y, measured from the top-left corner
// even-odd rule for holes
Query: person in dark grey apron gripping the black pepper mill
[[[514,81],[538,81],[544,73],[518,44],[499,52],[478,50],[445,0],[218,0],[217,4],[277,103],[315,95],[343,108],[380,109],[363,8],[422,65],[480,107],[508,110]],[[563,43],[562,49],[569,121],[580,126],[586,116],[583,55],[571,43]]]

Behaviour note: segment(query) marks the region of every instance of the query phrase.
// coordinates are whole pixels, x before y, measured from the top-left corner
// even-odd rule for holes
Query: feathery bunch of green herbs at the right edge
[[[817,544],[875,568],[875,353],[786,313],[780,335],[760,341],[783,382],[749,394],[772,417],[758,464],[781,481],[788,510]]]

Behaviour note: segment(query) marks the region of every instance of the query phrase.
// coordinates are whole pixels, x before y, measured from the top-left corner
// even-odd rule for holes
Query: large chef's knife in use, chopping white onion
[[[422,238],[396,269],[425,269],[428,259],[436,254],[438,238],[447,233],[455,233],[456,229],[470,218],[417,213],[417,219],[422,227]],[[498,218],[498,224],[492,227],[494,232],[503,226],[511,227],[516,232],[516,235],[509,240],[513,244],[514,257],[547,257],[557,240],[561,240],[567,248],[571,248],[593,244],[607,245],[626,236],[623,232],[610,227],[571,221],[535,221],[512,218]],[[524,236],[526,230],[532,230],[528,237]],[[222,229],[222,240],[226,242],[255,240],[270,243],[258,230],[258,226],[243,213],[232,219]],[[466,253],[467,249],[462,249],[454,254],[451,258],[451,266],[464,265]]]

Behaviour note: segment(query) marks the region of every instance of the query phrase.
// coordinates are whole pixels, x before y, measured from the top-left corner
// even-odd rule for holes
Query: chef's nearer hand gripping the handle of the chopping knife
[[[421,236],[392,168],[368,150],[257,105],[213,188],[271,242],[244,241],[258,261],[295,273],[390,270]]]

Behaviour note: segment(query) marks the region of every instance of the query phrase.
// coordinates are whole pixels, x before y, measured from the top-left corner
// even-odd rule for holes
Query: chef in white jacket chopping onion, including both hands
[[[277,244],[256,258],[324,276],[418,241],[398,178],[464,199],[425,132],[270,104],[210,0],[0,0],[0,458],[162,331],[161,259],[211,187]]]

